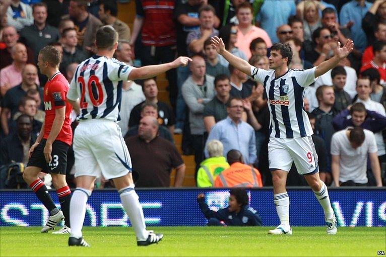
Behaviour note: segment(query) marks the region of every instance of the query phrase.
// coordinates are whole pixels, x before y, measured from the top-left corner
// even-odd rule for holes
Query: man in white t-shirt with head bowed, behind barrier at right
[[[331,169],[336,187],[367,186],[367,155],[376,186],[381,187],[380,165],[374,134],[367,129],[347,128],[331,140]]]

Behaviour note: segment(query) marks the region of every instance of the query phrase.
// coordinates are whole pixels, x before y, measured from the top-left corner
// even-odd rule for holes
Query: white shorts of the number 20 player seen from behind
[[[117,123],[105,119],[83,120],[75,129],[75,177],[108,179],[125,176],[132,160]]]

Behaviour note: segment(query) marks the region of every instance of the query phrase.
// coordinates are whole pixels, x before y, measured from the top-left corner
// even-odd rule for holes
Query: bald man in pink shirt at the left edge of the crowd
[[[15,44],[11,49],[12,59],[11,65],[0,70],[0,92],[2,96],[9,89],[16,87],[23,81],[22,70],[27,64],[27,48],[22,43]],[[36,84],[39,84],[39,79],[36,77]]]

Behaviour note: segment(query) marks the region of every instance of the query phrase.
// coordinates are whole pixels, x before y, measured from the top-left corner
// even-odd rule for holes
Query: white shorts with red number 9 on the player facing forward
[[[270,137],[268,143],[270,171],[282,169],[289,172],[292,161],[300,175],[317,173],[317,154],[311,136],[299,138]]]

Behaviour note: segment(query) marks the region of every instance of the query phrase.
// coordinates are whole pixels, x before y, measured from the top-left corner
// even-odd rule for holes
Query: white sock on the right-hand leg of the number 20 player
[[[132,223],[134,231],[136,231],[137,240],[146,240],[149,236],[149,231],[146,230],[144,213],[139,197],[134,190],[134,185],[122,188],[118,193],[130,223]]]

